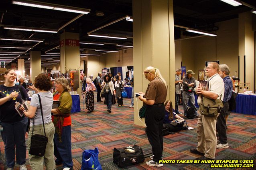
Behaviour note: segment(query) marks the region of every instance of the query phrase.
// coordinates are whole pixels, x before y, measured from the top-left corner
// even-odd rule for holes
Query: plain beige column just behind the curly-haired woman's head
[[[41,51],[30,52],[30,78],[34,83],[35,77],[41,74]]]

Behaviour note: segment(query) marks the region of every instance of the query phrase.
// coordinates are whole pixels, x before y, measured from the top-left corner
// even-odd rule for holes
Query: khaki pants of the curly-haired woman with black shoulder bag
[[[45,162],[46,170],[55,170],[55,160],[54,160],[54,154],[53,154],[53,151],[54,151],[53,137],[55,133],[55,128],[54,128],[53,122],[49,122],[45,124],[45,133],[48,138],[48,143],[45,149],[45,156],[35,156],[35,155],[28,154],[28,160],[32,170],[43,170],[44,162]],[[33,135],[34,134],[45,135],[43,124],[34,126]],[[32,126],[29,127],[29,133],[28,133],[28,142],[27,142],[28,153],[30,149],[31,136],[32,136]]]

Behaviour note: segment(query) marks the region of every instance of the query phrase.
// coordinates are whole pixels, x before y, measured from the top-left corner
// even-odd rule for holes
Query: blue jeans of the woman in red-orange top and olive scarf
[[[63,168],[73,168],[72,154],[71,154],[71,126],[63,126],[61,141],[59,142],[59,135],[54,134],[54,156],[57,162],[63,162]]]

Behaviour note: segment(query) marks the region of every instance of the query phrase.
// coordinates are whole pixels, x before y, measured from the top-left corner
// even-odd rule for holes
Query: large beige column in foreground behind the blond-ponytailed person
[[[148,80],[144,68],[158,68],[168,84],[167,100],[175,101],[175,45],[173,0],[133,0],[134,92],[145,92]],[[138,107],[142,102],[138,101]],[[175,106],[175,104],[174,104]],[[134,124],[138,118],[134,99]],[[144,120],[143,120],[144,121]]]

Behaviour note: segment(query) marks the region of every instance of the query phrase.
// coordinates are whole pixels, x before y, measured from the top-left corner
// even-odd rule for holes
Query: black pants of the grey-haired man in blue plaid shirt
[[[219,142],[221,144],[227,143],[227,131],[226,131],[226,119],[225,116],[228,115],[228,102],[223,102],[224,107],[220,110],[219,116],[217,118],[216,129],[219,133]]]

